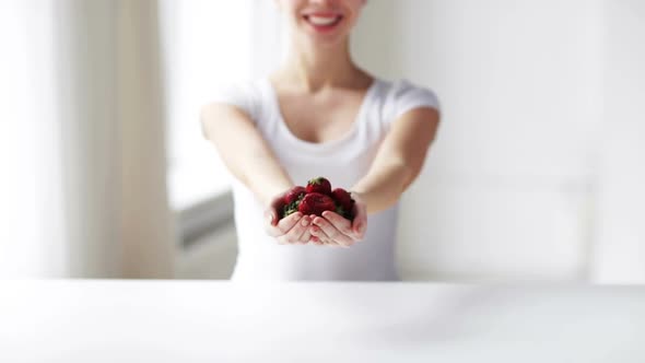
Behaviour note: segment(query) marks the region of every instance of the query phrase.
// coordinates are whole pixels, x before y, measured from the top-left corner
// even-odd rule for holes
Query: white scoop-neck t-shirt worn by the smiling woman
[[[367,173],[394,120],[413,108],[439,108],[429,89],[404,80],[376,79],[351,130],[340,139],[313,143],[286,127],[268,78],[226,87],[213,102],[248,114],[296,185],[324,176],[332,188],[348,190]],[[399,280],[395,255],[398,203],[370,215],[365,238],[351,248],[279,245],[265,232],[263,208],[255,195],[236,178],[232,183],[239,251],[232,280]]]

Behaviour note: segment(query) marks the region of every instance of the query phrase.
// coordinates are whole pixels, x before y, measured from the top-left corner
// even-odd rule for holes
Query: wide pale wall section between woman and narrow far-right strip
[[[403,198],[403,277],[586,279],[602,3],[374,0],[365,16],[360,61],[434,89],[443,105]]]

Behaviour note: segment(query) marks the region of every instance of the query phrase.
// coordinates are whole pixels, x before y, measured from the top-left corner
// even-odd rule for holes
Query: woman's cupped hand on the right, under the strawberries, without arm
[[[310,233],[315,237],[314,241],[318,239],[326,245],[344,248],[363,241],[367,231],[367,206],[357,192],[352,191],[351,196],[354,199],[353,222],[338,213],[326,211],[322,218],[313,219]]]

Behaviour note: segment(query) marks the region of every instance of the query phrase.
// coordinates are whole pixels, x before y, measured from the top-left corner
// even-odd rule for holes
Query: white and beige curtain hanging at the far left
[[[156,1],[0,7],[22,71],[0,86],[19,130],[2,147],[0,273],[173,277]]]

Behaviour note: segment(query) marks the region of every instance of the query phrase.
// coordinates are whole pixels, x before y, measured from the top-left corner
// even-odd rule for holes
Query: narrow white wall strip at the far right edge
[[[606,122],[593,276],[645,282],[645,2],[606,1]]]

